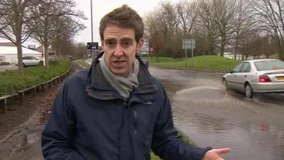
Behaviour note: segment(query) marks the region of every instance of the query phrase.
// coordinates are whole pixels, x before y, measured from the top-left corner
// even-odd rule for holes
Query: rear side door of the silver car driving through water
[[[249,78],[249,73],[251,72],[251,64],[249,62],[244,62],[241,66],[239,73],[236,73],[236,90],[244,91],[244,83]]]

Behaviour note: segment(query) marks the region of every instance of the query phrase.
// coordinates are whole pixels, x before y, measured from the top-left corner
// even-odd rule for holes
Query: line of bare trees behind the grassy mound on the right
[[[184,57],[183,38],[195,38],[195,55],[278,53],[284,60],[283,0],[162,1],[144,17],[155,56]]]

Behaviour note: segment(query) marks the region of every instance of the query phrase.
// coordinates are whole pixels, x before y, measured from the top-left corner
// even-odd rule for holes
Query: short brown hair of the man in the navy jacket
[[[99,23],[99,36],[104,40],[104,30],[109,25],[117,25],[121,28],[131,28],[135,31],[135,40],[138,41],[143,37],[144,23],[141,16],[129,6],[123,6],[114,9],[105,15]]]

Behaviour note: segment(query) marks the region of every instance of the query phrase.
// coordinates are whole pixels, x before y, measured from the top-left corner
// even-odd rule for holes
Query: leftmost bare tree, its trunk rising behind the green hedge
[[[20,75],[23,75],[21,44],[31,36],[28,23],[34,15],[30,11],[37,4],[36,0],[0,0],[0,38],[6,38],[17,46]]]

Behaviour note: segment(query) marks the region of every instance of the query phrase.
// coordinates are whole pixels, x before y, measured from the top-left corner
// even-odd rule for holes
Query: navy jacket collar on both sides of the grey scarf
[[[101,58],[103,53],[100,53],[97,58],[93,61],[91,68],[89,69],[87,84],[88,95],[99,100],[123,100],[123,97],[119,95],[119,92],[114,90],[113,87],[109,84],[106,78],[102,73],[102,69],[99,65],[99,58]],[[158,92],[157,87],[153,84],[151,80],[151,75],[148,72],[146,66],[140,57],[136,55],[140,65],[138,72],[138,87],[131,92],[131,101],[133,102],[145,102],[150,99],[155,98],[155,93]],[[138,95],[144,95],[138,96]],[[138,97],[137,97],[138,96]],[[151,98],[152,97],[152,98]],[[130,101],[130,100],[129,100]]]

